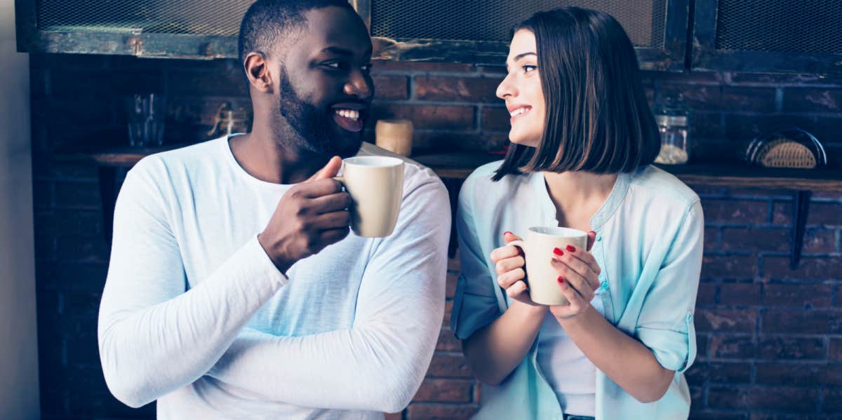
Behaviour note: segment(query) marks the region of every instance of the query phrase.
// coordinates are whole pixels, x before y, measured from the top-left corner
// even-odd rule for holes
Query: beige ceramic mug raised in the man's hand
[[[333,179],[351,196],[351,230],[360,237],[388,237],[401,208],[403,161],[397,157],[358,156],[342,162],[342,176]]]

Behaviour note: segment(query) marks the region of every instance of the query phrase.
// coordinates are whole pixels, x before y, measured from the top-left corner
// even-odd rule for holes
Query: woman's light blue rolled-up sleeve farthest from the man
[[[684,372],[695,359],[693,311],[699,289],[704,216],[688,206],[643,302],[635,335],[665,369]]]

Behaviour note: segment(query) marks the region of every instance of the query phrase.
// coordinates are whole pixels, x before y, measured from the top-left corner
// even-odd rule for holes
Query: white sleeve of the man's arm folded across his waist
[[[304,337],[247,329],[208,375],[302,407],[406,407],[429,367],[445,304],[450,205],[441,181],[424,177],[404,191],[396,230],[367,263],[354,327]]]

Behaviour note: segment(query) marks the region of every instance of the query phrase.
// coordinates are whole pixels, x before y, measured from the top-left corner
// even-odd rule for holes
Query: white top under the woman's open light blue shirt
[[[600,290],[591,306],[602,314]],[[565,414],[594,416],[596,412],[596,366],[573,343],[552,313],[547,312],[538,333],[538,365],[556,392]]]

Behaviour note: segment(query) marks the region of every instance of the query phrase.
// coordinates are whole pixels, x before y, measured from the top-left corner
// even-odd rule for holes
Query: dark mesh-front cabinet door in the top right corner
[[[692,68],[842,73],[839,0],[695,0]]]

